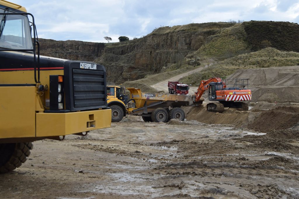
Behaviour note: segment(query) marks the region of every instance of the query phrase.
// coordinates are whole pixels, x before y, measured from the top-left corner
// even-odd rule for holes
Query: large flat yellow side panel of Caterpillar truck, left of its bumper
[[[0,138],[35,137],[36,87],[0,87]]]

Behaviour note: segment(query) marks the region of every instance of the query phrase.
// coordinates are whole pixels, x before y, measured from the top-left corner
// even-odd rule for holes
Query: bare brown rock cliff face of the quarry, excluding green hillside
[[[205,23],[161,27],[140,39],[109,44],[39,41],[42,55],[97,62],[106,67],[109,82],[123,82],[158,73],[167,64],[178,64],[179,67],[184,57],[199,49],[209,36],[232,25]]]

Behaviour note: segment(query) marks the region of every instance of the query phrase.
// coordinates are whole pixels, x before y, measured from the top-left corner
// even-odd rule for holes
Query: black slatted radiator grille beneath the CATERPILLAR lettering
[[[105,105],[105,82],[103,71],[73,69],[74,107]]]

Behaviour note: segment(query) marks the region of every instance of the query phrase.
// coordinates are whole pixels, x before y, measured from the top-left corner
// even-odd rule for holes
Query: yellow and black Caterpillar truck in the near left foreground
[[[110,127],[106,92],[104,66],[39,56],[33,16],[0,0],[0,173],[21,166],[32,141]]]

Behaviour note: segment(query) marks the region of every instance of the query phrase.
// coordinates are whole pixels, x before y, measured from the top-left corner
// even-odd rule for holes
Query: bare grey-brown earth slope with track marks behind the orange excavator
[[[253,102],[299,101],[299,66],[237,70],[227,79],[250,79]]]

